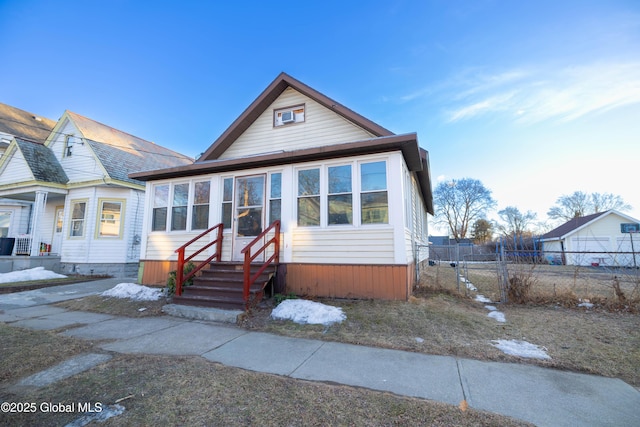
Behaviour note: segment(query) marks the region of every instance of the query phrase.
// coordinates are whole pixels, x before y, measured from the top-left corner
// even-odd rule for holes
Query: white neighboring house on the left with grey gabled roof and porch
[[[0,158],[0,197],[20,206],[4,210],[0,269],[135,277],[145,186],[128,175],[193,160],[70,111],[47,135],[14,135]]]

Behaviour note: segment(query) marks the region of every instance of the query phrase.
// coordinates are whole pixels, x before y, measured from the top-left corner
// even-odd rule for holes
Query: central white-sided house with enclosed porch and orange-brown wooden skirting
[[[220,261],[240,262],[279,221],[278,281],[298,295],[404,300],[428,258],[417,250],[433,214],[417,135],[396,135],[285,73],[192,165],[130,176],[147,182],[144,284],[165,283],[176,249],[208,227],[218,228],[204,241],[219,231],[221,244],[193,259],[219,250]]]

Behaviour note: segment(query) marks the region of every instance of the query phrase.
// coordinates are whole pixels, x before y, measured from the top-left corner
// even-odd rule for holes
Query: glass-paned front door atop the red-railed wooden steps
[[[242,250],[264,229],[265,175],[236,178],[233,260],[243,261]],[[257,246],[259,248],[260,246]],[[256,261],[264,257],[256,258]]]

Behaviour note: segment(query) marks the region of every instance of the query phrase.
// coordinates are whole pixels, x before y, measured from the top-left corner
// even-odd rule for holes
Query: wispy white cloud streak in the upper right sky
[[[467,72],[441,89],[452,100],[447,121],[499,114],[520,123],[572,121],[640,103],[640,63],[562,69]]]

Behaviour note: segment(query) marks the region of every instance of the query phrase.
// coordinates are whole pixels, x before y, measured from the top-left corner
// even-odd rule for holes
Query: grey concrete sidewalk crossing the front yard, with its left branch
[[[466,400],[472,408],[538,426],[640,425],[640,392],[618,379],[524,364],[289,338],[174,316],[132,319],[48,305],[98,293],[124,281],[129,280],[108,279],[0,295],[0,321],[9,325],[42,330],[69,326],[63,335],[114,340],[99,346],[104,351],[102,357],[78,356],[78,360],[62,362],[23,379],[21,385],[46,383],[49,377],[58,378],[60,371],[73,375],[82,366],[90,369],[107,360],[112,352],[193,355],[242,369],[331,381],[452,405]],[[270,357],[265,359],[264,354]]]

